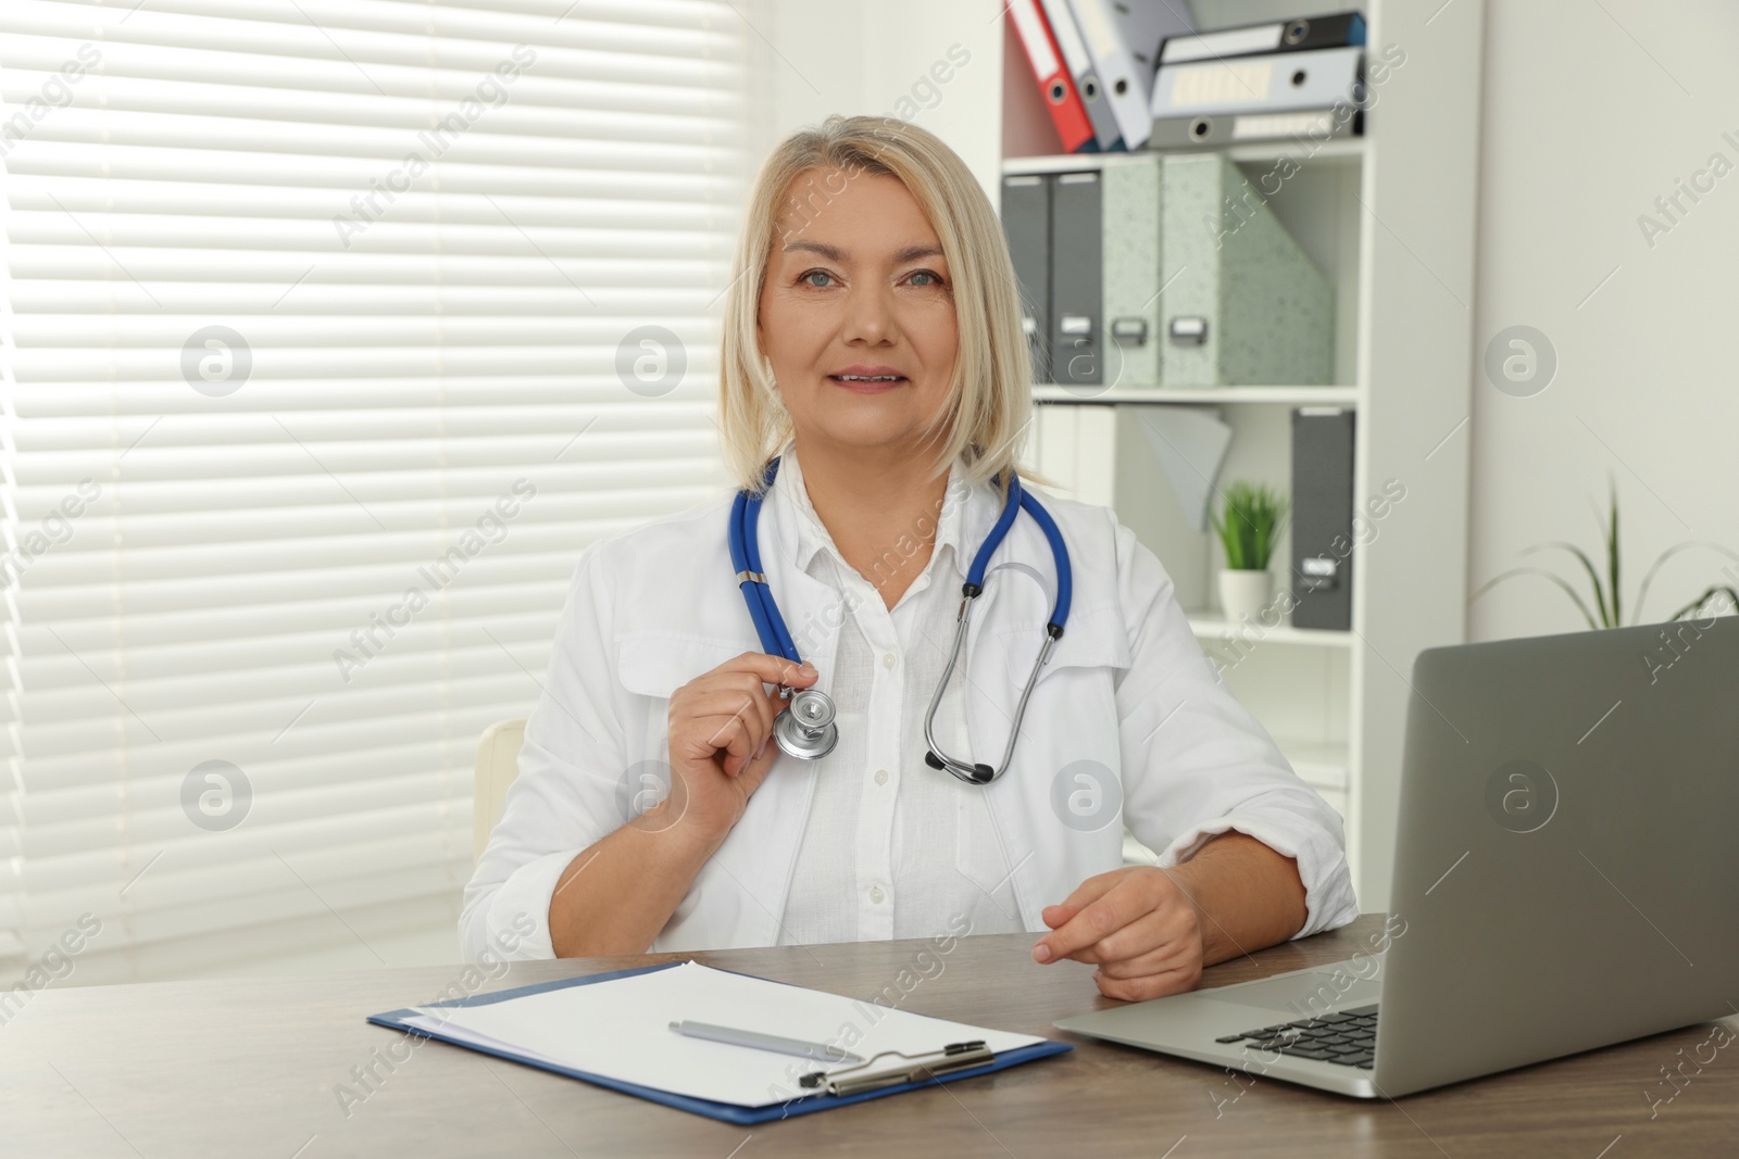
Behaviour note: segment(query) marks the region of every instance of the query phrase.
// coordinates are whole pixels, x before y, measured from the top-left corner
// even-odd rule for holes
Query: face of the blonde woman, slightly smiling
[[[826,191],[840,182],[807,170],[786,189],[760,349],[805,443],[915,452],[955,368],[953,280],[897,177],[859,174]]]

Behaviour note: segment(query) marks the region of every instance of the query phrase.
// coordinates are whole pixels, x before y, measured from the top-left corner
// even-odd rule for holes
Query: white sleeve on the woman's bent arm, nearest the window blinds
[[[543,693],[525,721],[518,777],[464,888],[459,945],[470,961],[485,950],[555,957],[556,879],[623,820],[616,798],[626,759],[602,547],[588,547],[574,568]]]

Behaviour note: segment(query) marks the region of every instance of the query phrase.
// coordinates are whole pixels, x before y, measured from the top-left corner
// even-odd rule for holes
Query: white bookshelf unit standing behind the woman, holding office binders
[[[1332,386],[1035,387],[1029,460],[1064,493],[1108,502],[1177,584],[1203,650],[1299,775],[1346,820],[1365,909],[1389,897],[1409,674],[1466,626],[1468,414],[1480,127],[1482,5],[1367,0],[1369,52],[1405,63],[1374,89],[1362,137],[1229,146],[1252,184],[1282,158],[1296,174],[1266,202],[1336,290]],[[1273,0],[1193,0],[1202,30],[1301,14]],[[1005,36],[1002,169],[1078,172],[1127,155],[1059,156],[1012,31]],[[1290,492],[1290,412],[1356,412],[1353,500],[1389,481],[1405,497],[1369,520],[1351,554],[1351,631],[1233,626],[1217,608],[1223,565],[1210,532],[1189,527],[1141,438],[1149,407],[1214,407],[1233,427],[1221,481]],[[1367,539],[1369,535],[1369,539]],[[1290,542],[1276,549],[1287,582]],[[1132,843],[1130,860],[1144,851]]]

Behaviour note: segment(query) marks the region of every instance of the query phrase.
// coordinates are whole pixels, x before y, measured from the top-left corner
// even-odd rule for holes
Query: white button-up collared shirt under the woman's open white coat
[[[953,478],[949,471],[949,483]],[[796,506],[796,565],[840,594],[830,693],[838,744],[816,763],[781,944],[936,937],[962,919],[974,933],[1017,933],[1021,912],[984,791],[923,763],[923,714],[948,664],[960,586],[972,563],[962,554],[977,551],[960,544],[963,488],[948,487],[941,513],[927,511],[903,528],[882,554],[885,565],[871,565],[866,579],[835,547],[790,448],[774,487]],[[889,608],[882,587],[896,573],[909,573],[896,568],[916,556],[932,530],[929,563]],[[807,657],[805,636],[814,632],[788,627],[798,655]],[[943,745],[960,745],[949,754],[965,759],[962,686],[956,671],[936,728]]]

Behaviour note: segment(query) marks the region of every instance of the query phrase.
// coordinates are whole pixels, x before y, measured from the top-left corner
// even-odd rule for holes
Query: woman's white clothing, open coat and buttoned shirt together
[[[1043,931],[1045,905],[1123,864],[1125,824],[1160,865],[1228,831],[1296,858],[1306,890],[1297,937],[1358,914],[1339,815],[1219,683],[1170,575],[1108,507],[1042,499],[1073,565],[1071,612],[1007,772],[979,787],[923,765],[922,707],[911,705],[927,705],[939,671],[925,632],[951,643],[949,589],[1002,497],[984,481],[944,500],[936,553],[890,612],[840,566],[824,528],[805,527],[814,513],[798,480],[781,466],[762,506],[762,570],[819,671],[814,686],[842,709],[866,707],[842,716],[828,759],[777,756],[649,949],[922,935],[939,914],[953,933],[983,933],[1005,928],[996,914],[1010,911],[1017,928]],[[730,500],[722,493],[581,554],[520,775],[464,891],[468,956],[499,954],[503,938],[518,938],[516,957],[553,956],[548,912],[562,871],[636,815],[649,770],[668,777],[671,692],[763,650],[727,547]],[[1054,596],[1050,549],[1023,513],[974,599],[963,671],[937,718],[953,756],[1002,759]],[[894,667],[882,662],[889,653]],[[875,784],[882,770],[887,785]],[[953,801],[951,824],[937,801]],[[960,921],[963,907],[974,909]]]

